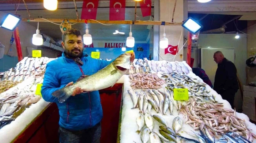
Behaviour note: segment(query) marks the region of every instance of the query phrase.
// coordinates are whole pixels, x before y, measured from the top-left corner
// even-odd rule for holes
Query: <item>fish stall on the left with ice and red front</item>
[[[54,59],[25,57],[15,68],[0,74],[1,83],[11,83],[0,94],[0,142],[27,142],[36,133],[36,122],[52,106],[36,95],[37,84],[43,83],[46,64]],[[55,107],[56,108],[56,107]],[[25,133],[25,134],[24,134]]]

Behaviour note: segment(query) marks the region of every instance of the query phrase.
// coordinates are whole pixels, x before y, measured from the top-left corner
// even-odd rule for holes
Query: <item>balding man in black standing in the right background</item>
[[[215,52],[213,58],[218,64],[213,89],[234,108],[234,96],[239,89],[236,66],[220,51]]]

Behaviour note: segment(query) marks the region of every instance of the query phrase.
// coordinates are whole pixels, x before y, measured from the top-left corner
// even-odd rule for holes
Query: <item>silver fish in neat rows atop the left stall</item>
[[[16,67],[0,73],[1,81],[22,82],[30,76],[44,73],[48,57],[24,57],[22,61],[17,63]]]

